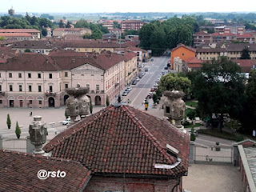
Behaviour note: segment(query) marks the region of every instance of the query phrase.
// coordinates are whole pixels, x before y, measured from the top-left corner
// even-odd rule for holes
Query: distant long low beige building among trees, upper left
[[[54,37],[63,37],[66,34],[83,35],[91,34],[91,30],[87,28],[56,28],[53,30]]]

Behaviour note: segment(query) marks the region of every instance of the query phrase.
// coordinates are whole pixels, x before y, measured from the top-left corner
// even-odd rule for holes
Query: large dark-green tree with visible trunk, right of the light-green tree
[[[222,131],[224,114],[238,118],[244,101],[245,78],[241,67],[226,57],[202,63],[202,68],[194,80],[193,92],[198,99],[198,110],[202,117],[218,119],[218,129]]]

